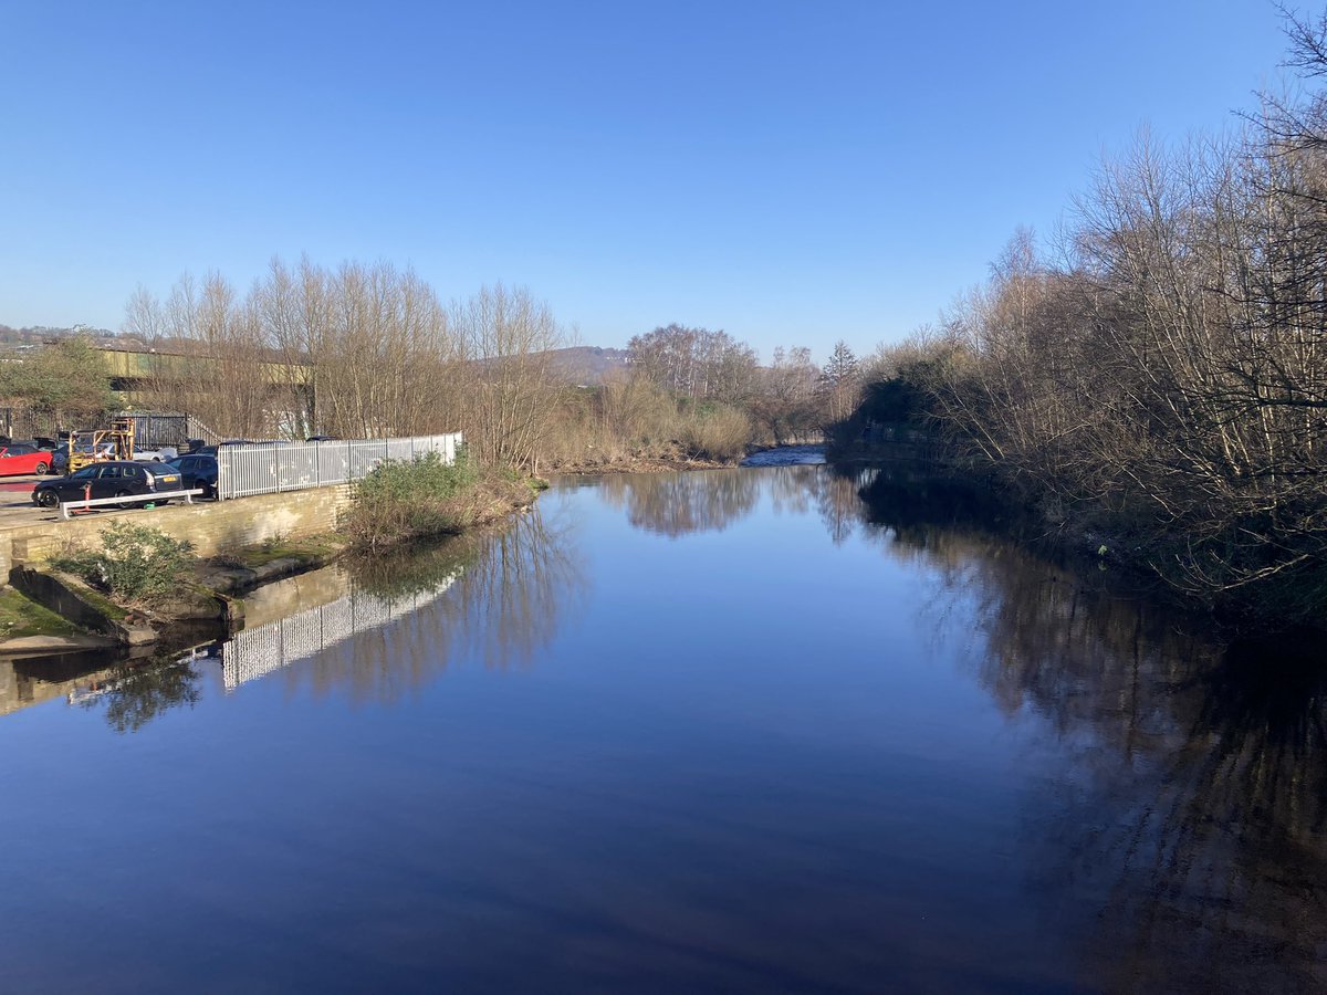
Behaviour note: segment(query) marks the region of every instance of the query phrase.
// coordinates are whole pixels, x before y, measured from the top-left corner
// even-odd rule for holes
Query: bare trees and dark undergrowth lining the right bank
[[[1212,604],[1327,597],[1327,16],[1291,20],[1307,92],[1237,134],[1140,139],[1054,255],[1019,231],[938,326],[884,349],[905,399],[1056,525]],[[857,422],[871,417],[871,403]]]

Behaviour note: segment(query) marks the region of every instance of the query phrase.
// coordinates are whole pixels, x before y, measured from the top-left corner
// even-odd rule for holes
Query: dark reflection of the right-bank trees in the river
[[[1068,760],[1027,807],[1030,873],[1039,894],[1067,896],[1058,922],[1096,907],[1079,927],[1084,982],[1327,988],[1320,659],[1226,646],[1112,596],[1001,537],[998,509],[961,484],[853,478],[867,535],[925,560],[938,613],[975,613],[978,681],[1007,715],[1042,716]]]

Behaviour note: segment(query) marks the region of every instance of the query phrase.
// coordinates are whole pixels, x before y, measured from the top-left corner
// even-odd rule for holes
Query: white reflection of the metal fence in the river
[[[356,633],[377,629],[437,601],[453,585],[460,570],[435,586],[415,594],[384,598],[352,590],[328,605],[318,605],[253,629],[242,629],[222,646],[222,674],[226,690],[245,681],[307,659]]]

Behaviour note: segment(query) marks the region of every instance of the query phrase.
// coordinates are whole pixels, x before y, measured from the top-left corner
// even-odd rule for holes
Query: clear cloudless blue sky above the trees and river
[[[0,322],[308,252],[524,285],[588,345],[868,352],[1283,50],[1261,0],[0,0]]]

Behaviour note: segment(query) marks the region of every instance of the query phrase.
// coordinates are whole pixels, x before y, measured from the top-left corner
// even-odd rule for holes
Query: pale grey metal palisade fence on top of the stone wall
[[[451,432],[407,439],[220,446],[216,450],[216,496],[226,500],[344,484],[364,479],[386,460],[409,463],[426,452],[437,452],[443,463],[453,463],[460,443],[460,432]]]

